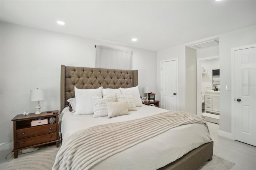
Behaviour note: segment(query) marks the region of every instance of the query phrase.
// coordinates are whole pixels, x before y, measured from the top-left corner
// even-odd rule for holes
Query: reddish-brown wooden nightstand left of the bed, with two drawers
[[[53,114],[56,112],[55,114]],[[56,142],[57,148],[59,147],[59,124],[58,124],[58,111],[50,113],[42,112],[39,115],[31,113],[30,115],[17,115],[12,119],[13,121],[13,152],[14,158],[18,157],[18,151],[26,148],[40,146]],[[31,126],[33,119],[55,117],[56,123],[45,124],[38,126]]]

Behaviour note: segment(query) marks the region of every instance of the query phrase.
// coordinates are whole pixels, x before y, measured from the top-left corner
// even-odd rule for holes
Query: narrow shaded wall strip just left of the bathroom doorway
[[[196,115],[196,49],[187,47],[186,50],[186,86],[185,111]]]

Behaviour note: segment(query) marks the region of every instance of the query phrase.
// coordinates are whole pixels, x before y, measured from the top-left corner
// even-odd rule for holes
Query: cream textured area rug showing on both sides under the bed
[[[58,150],[56,146],[40,147],[34,152],[19,154],[16,159],[12,154],[7,170],[51,170]],[[234,163],[213,155],[212,160],[198,170],[230,170],[233,166]]]

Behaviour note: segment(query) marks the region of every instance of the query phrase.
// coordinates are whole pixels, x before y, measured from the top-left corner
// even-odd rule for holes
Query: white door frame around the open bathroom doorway
[[[196,115],[202,117],[202,61],[212,60],[212,59],[220,59],[219,55],[211,56],[211,57],[204,57],[204,58],[197,58],[196,59],[196,77],[197,77],[197,89],[196,89]]]

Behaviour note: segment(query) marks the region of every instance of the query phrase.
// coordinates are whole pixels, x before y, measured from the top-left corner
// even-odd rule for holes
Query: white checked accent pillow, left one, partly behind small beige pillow
[[[112,97],[110,97],[112,99]],[[92,96],[93,117],[108,116],[106,101],[100,96]]]

